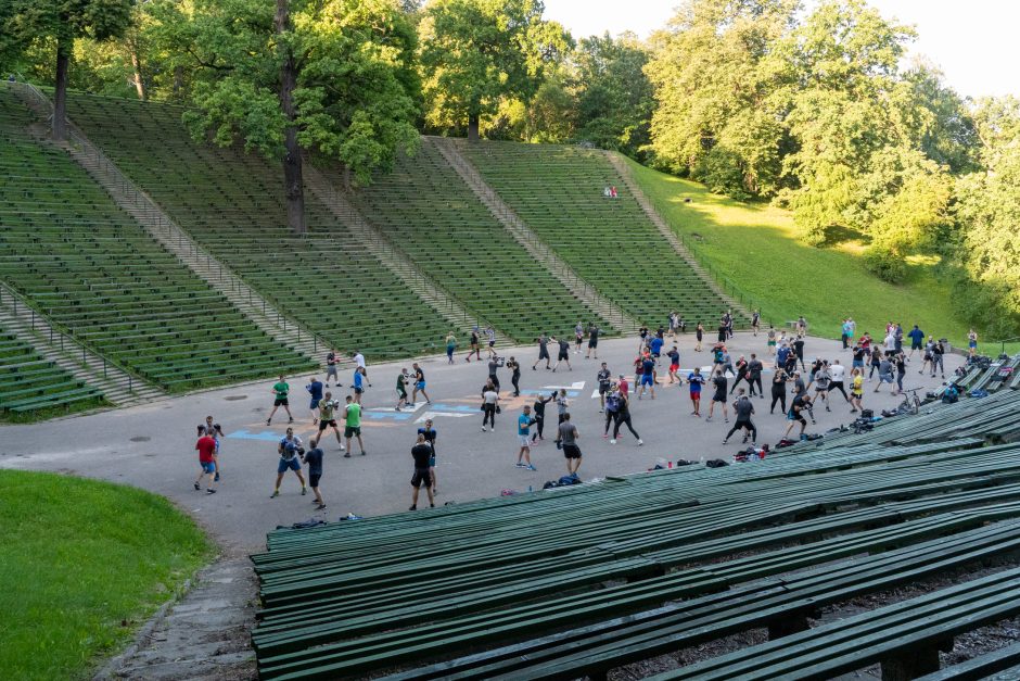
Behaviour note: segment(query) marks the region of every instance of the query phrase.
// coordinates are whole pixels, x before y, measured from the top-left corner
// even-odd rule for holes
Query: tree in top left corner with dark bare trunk
[[[53,40],[56,76],[53,93],[52,137],[67,135],[67,80],[76,38],[103,41],[124,35],[131,22],[133,0],[12,0],[3,33],[20,45]]]

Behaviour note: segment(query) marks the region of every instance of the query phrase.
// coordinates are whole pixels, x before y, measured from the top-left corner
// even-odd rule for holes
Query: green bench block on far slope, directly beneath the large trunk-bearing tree
[[[448,323],[308,191],[309,232],[291,232],[278,166],[196,143],[168,104],[75,93],[68,114],[205,249],[341,351],[385,358],[442,348]]]

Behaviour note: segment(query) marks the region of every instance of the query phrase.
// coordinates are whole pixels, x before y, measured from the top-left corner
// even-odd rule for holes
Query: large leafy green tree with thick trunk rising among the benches
[[[281,161],[295,232],[304,152],[369,182],[418,143],[416,35],[397,0],[193,0],[168,3],[158,21],[194,68],[186,123]]]

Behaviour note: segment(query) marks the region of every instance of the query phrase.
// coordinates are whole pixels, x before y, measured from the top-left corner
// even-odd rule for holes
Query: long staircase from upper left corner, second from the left
[[[43,118],[52,117],[52,104],[44,94],[30,85],[17,85],[13,91],[25,105]],[[330,341],[284,315],[229,267],[200,247],[71,121],[67,122],[67,141],[60,146],[153,239],[206,283],[222,293],[255,326],[280,344],[307,356],[309,361],[317,364],[320,362],[320,355],[324,355],[329,350]]]

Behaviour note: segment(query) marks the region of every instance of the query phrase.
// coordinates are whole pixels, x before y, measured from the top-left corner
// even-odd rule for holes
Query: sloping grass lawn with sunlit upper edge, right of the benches
[[[953,313],[951,287],[939,280],[933,260],[916,258],[904,283],[887,283],[865,268],[857,242],[821,249],[804,245],[796,240],[787,211],[734,201],[698,182],[628,162],[662,216],[704,265],[723,273],[752,301],[749,307],[761,307],[763,324],[779,328],[804,315],[813,333],[839,338],[842,317],[849,315],[857,321],[858,333],[883,337],[885,323],[892,320],[901,321],[905,330],[918,324],[926,333],[948,338],[954,346],[966,345],[968,325]],[[706,327],[715,323],[710,319]],[[981,337],[982,329],[977,330]],[[993,356],[999,349],[981,348]],[[1018,352],[1020,344],[1007,343],[1006,350],[1010,349]]]

